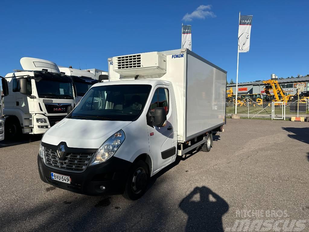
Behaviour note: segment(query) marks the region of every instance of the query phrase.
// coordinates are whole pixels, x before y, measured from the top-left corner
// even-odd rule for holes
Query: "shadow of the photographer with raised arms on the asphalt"
[[[195,196],[199,195],[199,200]],[[179,208],[188,215],[185,231],[223,232],[222,216],[229,210],[227,202],[208,187],[196,187]]]

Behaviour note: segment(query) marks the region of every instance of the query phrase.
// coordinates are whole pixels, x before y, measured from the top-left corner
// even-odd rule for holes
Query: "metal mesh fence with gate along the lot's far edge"
[[[273,105],[273,106],[272,106]],[[284,109],[285,108],[285,109]],[[237,103],[237,114],[241,118],[260,118],[272,119],[280,118],[283,112],[283,118],[290,119],[291,117],[308,117],[309,103],[298,103],[298,101],[284,103],[279,102],[256,102],[250,98]],[[226,116],[235,114],[235,100],[226,101]]]

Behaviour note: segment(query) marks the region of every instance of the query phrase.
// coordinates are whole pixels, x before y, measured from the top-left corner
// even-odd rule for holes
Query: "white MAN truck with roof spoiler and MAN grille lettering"
[[[69,76],[57,64],[23,57],[23,70],[8,73],[9,94],[4,98],[5,135],[43,134],[66,117],[74,106],[74,90]]]

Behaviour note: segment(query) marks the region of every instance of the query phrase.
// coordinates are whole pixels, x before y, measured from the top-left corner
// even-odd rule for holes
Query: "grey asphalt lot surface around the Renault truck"
[[[0,141],[0,231],[309,231],[309,123],[228,119],[224,129],[136,201],[52,187],[38,174],[40,136]]]

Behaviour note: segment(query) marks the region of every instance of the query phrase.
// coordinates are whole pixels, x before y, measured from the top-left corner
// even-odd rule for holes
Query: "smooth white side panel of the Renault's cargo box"
[[[225,123],[226,72],[187,54],[186,140]]]

